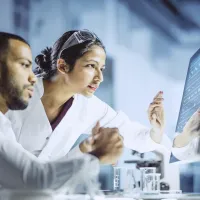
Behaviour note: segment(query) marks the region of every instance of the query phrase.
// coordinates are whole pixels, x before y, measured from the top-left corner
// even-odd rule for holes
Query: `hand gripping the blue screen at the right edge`
[[[184,147],[200,136],[200,109],[198,109],[185,124],[183,132],[174,139],[173,147]]]

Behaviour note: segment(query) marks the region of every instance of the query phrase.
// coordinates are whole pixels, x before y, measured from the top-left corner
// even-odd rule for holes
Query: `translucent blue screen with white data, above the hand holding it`
[[[186,122],[198,108],[200,108],[200,49],[190,59],[176,132],[182,132]]]

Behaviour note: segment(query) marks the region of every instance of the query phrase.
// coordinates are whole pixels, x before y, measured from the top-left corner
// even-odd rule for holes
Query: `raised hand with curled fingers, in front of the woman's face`
[[[163,92],[160,91],[154,97],[153,102],[149,105],[148,109],[148,118],[152,125],[150,133],[151,138],[157,143],[160,143],[162,140],[165,125],[163,100]]]

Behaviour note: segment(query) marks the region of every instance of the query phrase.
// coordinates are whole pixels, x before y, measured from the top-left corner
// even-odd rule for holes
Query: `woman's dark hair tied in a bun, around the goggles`
[[[44,79],[51,79],[57,73],[57,59],[60,54],[61,48],[63,44],[67,41],[67,39],[76,31],[68,31],[64,33],[53,45],[52,48],[44,49],[41,54],[36,56],[35,62],[38,67],[35,70],[35,74],[43,74]],[[71,72],[74,68],[75,62],[84,53],[86,53],[91,46],[97,45],[102,47],[105,51],[105,47],[102,42],[98,39],[95,41],[85,41],[83,43],[71,46],[62,51],[60,58],[64,59],[65,62],[69,65]]]

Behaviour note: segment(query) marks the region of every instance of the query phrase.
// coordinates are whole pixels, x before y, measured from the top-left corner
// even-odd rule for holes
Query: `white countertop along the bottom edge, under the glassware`
[[[23,198],[22,198],[23,197]],[[62,195],[52,191],[0,191],[0,200],[90,200],[89,195]],[[94,200],[200,200],[200,194],[110,194],[95,196]]]

